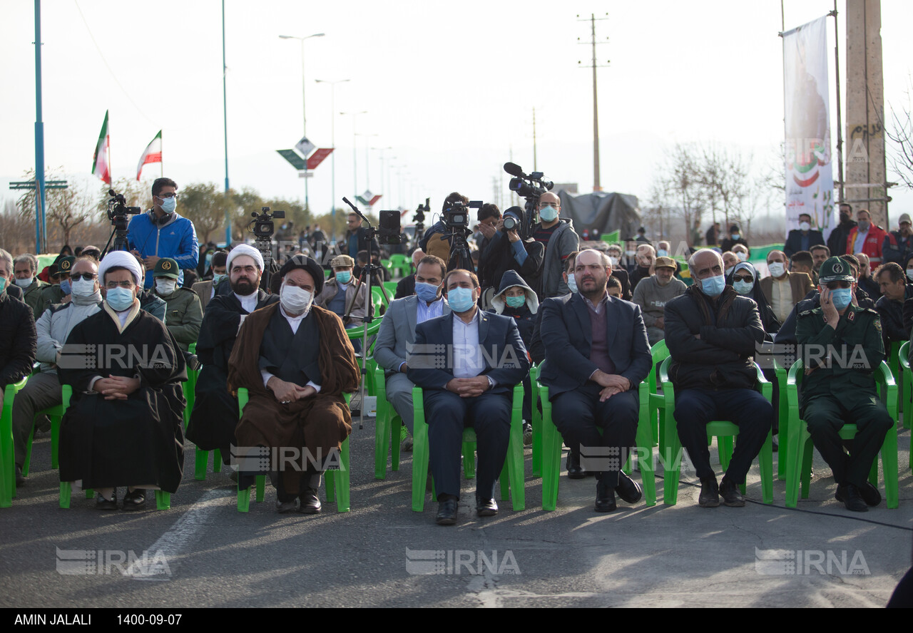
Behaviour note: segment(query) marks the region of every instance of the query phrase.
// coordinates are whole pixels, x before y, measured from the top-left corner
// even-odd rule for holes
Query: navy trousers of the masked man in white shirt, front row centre
[[[510,391],[487,391],[476,398],[460,398],[450,391],[425,390],[428,460],[438,499],[443,494],[459,498],[463,465],[460,455],[466,426],[476,431],[476,496],[483,499],[495,496],[495,482],[508,454],[511,395]]]

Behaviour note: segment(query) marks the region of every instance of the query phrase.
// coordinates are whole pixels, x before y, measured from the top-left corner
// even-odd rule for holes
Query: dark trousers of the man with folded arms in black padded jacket
[[[751,462],[761,452],[773,421],[773,408],[754,389],[682,389],[676,393],[678,439],[687,450],[698,478],[715,476],[710,467],[707,424],[727,420],[739,427],[726,478],[745,483]],[[677,459],[677,456],[672,456]]]

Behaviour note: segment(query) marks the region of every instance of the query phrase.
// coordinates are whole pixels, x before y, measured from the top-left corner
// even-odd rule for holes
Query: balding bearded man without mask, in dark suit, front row
[[[640,307],[608,295],[611,274],[605,254],[581,251],[574,264],[579,293],[546,300],[540,325],[540,380],[549,387],[552,420],[568,446],[599,456],[595,463],[603,466],[596,512],[615,509],[614,493],[627,503],[641,499],[621,466],[637,434],[637,385],[653,362]]]

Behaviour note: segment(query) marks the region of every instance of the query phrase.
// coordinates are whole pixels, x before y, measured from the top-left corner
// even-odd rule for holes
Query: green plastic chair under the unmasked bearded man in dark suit
[[[644,501],[647,506],[656,505],[656,473],[653,466],[653,432],[645,415],[648,405],[645,383],[638,387],[640,414],[637,419],[638,467],[641,484],[644,489]],[[542,510],[552,511],[558,507],[558,483],[561,479],[561,444],[564,442],[561,433],[551,421],[551,402],[549,388],[539,383],[539,398],[542,404]],[[600,431],[602,432],[602,431]],[[630,458],[628,460],[630,463]],[[625,472],[630,474],[630,468]]]

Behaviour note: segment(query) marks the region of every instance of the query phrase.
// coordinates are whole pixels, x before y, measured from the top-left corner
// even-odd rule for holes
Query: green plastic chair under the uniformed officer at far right
[[[808,426],[805,420],[799,417],[799,385],[803,377],[802,360],[796,362],[790,368],[787,396],[789,397],[790,408],[790,454],[789,454],[789,472],[786,476],[786,506],[796,507],[799,503],[799,484],[802,483],[802,498],[808,498],[808,487],[812,472],[812,449],[814,443],[812,436],[808,432]],[[894,382],[894,376],[891,375],[891,369],[885,361],[881,361],[878,370],[875,372],[875,379],[878,385],[881,400],[887,406],[887,413],[892,419],[897,420],[897,385]],[[855,424],[845,424],[840,430],[840,437],[844,440],[852,440],[856,434]],[[897,488],[897,425],[894,425],[887,431],[885,441],[881,445],[881,466],[885,474],[885,497],[887,498],[888,508],[897,508],[898,494]],[[872,470],[869,472],[868,481],[873,485],[878,483],[878,459],[872,462]]]

